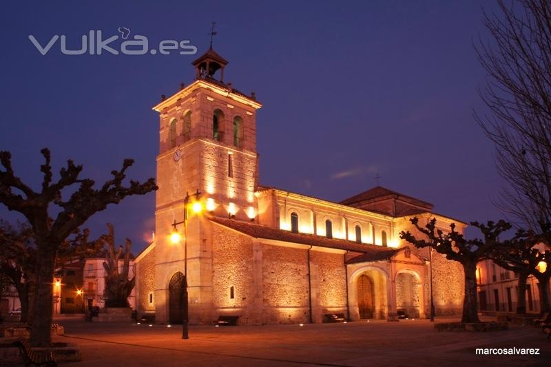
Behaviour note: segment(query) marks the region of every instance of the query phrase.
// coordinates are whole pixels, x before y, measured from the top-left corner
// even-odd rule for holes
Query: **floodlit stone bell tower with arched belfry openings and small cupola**
[[[153,107],[160,115],[154,292],[160,322],[178,321],[182,301],[174,294],[174,280],[184,273],[186,258],[190,322],[211,321],[208,218],[255,220],[258,215],[256,110],[262,105],[253,93],[244,94],[223,81],[227,64],[210,48],[192,63],[195,81],[180,85]],[[188,206],[187,223],[178,225],[187,238],[174,244],[169,240],[171,224],[183,221],[186,193],[190,202],[200,202],[202,211],[195,213]]]

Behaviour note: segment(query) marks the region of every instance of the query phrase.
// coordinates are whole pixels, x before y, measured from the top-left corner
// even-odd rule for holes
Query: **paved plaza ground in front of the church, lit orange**
[[[191,326],[183,340],[178,325],[59,322],[65,337],[58,339],[81,348],[74,366],[551,366],[551,340],[533,326],[488,333],[437,332],[426,319]],[[514,346],[541,354],[475,355],[475,348]]]

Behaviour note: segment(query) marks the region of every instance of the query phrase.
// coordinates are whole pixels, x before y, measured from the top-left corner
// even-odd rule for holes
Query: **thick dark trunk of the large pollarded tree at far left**
[[[37,262],[37,286],[30,332],[32,346],[50,346],[52,342],[52,302],[56,244],[39,243]]]

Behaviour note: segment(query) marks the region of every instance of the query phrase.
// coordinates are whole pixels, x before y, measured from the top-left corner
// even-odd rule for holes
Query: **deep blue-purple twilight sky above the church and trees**
[[[484,70],[472,47],[488,35],[490,1],[43,1],[3,3],[0,12],[0,149],[39,187],[40,149],[57,170],[67,158],[103,182],[123,158],[129,177],[155,176],[160,95],[194,78],[208,48],[230,63],[225,81],[256,92],[260,182],[339,201],[375,185],[432,202],[461,220],[499,219],[503,185],[493,147],[472,118],[484,113],[476,87]],[[101,30],[121,50],[130,37],[189,40],[197,55],[65,55]],[[0,207],[0,218],[17,218]],[[93,235],[115,225],[119,242],[145,246],[154,230],[154,193],[96,214]]]

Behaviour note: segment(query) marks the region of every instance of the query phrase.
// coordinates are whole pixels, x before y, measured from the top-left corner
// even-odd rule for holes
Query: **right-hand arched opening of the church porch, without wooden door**
[[[404,271],[396,275],[396,309],[409,317],[419,317],[421,309],[421,284],[415,273]]]

